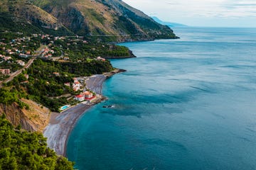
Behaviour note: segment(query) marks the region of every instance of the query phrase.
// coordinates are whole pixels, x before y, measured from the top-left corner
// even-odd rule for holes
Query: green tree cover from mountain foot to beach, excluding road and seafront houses
[[[14,77],[9,83],[3,84],[5,87],[3,90],[6,94],[2,95],[2,102],[7,100],[5,105],[16,102],[20,108],[26,109],[29,107],[21,102],[21,98],[28,98],[41,103],[55,112],[59,112],[60,106],[77,103],[72,96],[79,94],[80,91],[75,92],[71,87],[74,77],[87,77],[113,70],[110,61],[97,60],[96,57],[127,57],[130,55],[127,47],[88,42],[75,36],[54,37],[53,35],[36,34],[24,37],[23,33],[12,32],[3,32],[0,33],[0,36],[0,49],[10,49],[14,52],[14,54],[9,55],[7,50],[0,50],[0,55],[11,56],[11,60],[0,59],[0,68],[11,69],[11,72],[23,68],[16,61],[28,62],[30,59],[29,57],[19,57],[19,52],[31,51],[33,53],[41,44],[48,46],[46,55],[52,54],[53,57],[59,57],[60,61],[54,62],[50,60],[51,57],[40,55],[22,74]],[[16,52],[16,50],[18,51]],[[1,74],[0,78],[4,80],[8,76]],[[65,86],[64,84],[67,82],[71,86]],[[13,98],[5,98],[9,94]]]

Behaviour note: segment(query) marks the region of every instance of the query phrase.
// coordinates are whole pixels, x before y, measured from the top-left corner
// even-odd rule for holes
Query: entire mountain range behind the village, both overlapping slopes
[[[177,38],[171,28],[119,0],[1,0],[0,6],[0,30],[118,42]]]

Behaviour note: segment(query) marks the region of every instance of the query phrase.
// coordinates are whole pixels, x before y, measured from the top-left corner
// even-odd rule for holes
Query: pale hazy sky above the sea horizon
[[[256,0],[123,0],[149,16],[188,26],[256,27]]]

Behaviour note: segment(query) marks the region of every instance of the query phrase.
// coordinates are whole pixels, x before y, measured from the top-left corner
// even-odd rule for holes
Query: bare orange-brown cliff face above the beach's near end
[[[14,126],[21,125],[21,128],[31,132],[43,132],[43,129],[46,128],[46,125],[48,125],[50,120],[50,111],[48,108],[41,107],[37,103],[26,99],[22,99],[22,101],[28,104],[28,110],[25,108],[18,108],[16,103],[11,104],[10,106],[0,104],[0,115],[5,113],[6,118]]]

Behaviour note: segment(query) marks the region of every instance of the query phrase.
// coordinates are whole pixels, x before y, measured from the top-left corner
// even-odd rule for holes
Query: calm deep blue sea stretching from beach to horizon
[[[77,169],[256,169],[256,29],[174,31],[122,44],[137,58],[71,133]]]

